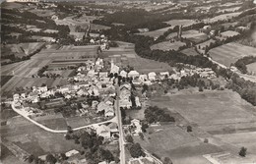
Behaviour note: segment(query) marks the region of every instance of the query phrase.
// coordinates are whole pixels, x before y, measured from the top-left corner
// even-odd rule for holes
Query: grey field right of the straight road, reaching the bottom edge
[[[159,157],[170,157],[172,162],[178,164],[196,161],[197,164],[211,164],[202,155],[222,151],[212,144],[204,144],[185,130],[176,126],[164,125],[151,127],[145,134],[145,139],[134,137],[135,142],[140,142],[143,148]],[[185,156],[185,157],[184,157]]]

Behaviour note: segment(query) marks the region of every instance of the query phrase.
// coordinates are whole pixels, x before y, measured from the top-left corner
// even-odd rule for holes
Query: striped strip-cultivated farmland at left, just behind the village
[[[32,56],[31,60],[26,60],[1,67],[1,76],[13,76],[9,81],[7,79],[3,82],[1,95],[10,96],[16,87],[32,87],[41,86],[46,83],[47,86],[53,87],[56,85],[68,84],[65,79],[46,79],[46,78],[32,78],[36,75],[38,70],[48,65],[49,68],[66,67],[67,65],[77,65],[83,61],[87,61],[91,57],[95,59],[97,46],[63,46],[55,47],[54,49],[44,49]],[[87,59],[81,59],[87,57]],[[76,60],[77,59],[77,60]],[[55,61],[54,61],[55,60]],[[72,70],[61,71],[63,77],[72,75]]]

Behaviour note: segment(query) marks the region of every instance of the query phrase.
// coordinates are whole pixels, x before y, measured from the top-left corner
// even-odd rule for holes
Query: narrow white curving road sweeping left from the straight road
[[[22,112],[20,109],[17,109],[15,107],[15,104],[14,102],[11,102],[11,105],[12,105],[12,109],[18,113],[19,115],[23,116],[25,119],[29,120],[30,122],[32,122],[32,124],[38,126],[39,128],[47,131],[47,132],[50,132],[50,133],[54,133],[54,134],[66,134],[67,133],[67,130],[52,130],[48,127],[45,127],[44,125],[41,125],[40,123],[37,123],[36,121],[32,120],[29,116],[27,116],[24,112]],[[82,130],[82,129],[85,129],[85,128],[91,128],[91,127],[94,127],[96,125],[101,125],[101,124],[105,124],[105,123],[112,123],[112,122],[117,122],[117,118],[114,117],[112,118],[111,120],[107,120],[107,121],[104,121],[104,122],[100,122],[100,123],[96,123],[96,124],[91,124],[91,125],[87,125],[87,126],[82,126],[82,127],[78,127],[78,128],[74,128],[73,131],[78,131],[78,130]]]

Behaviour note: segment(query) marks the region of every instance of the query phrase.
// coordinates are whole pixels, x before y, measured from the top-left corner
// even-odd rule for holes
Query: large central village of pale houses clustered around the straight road
[[[77,127],[68,127],[74,132],[84,128],[85,130],[92,130],[96,132],[98,137],[103,137],[110,143],[118,142],[119,128],[116,118],[116,110],[118,109],[115,106],[116,84],[120,85],[119,109],[138,110],[145,108],[146,103],[144,101],[147,101],[148,98],[146,92],[134,96],[132,87],[152,85],[168,79],[178,82],[182,77],[195,74],[203,79],[216,78],[216,74],[209,68],[202,69],[184,65],[182,69],[173,73],[160,72],[157,74],[150,72],[149,74],[140,74],[136,70],[129,72],[123,70],[122,67],[115,65],[113,60],[109,63],[109,61],[97,58],[95,62],[88,60],[81,64],[77,68],[76,74],[68,79],[70,82],[68,85],[49,88],[43,84],[39,87],[33,86],[31,92],[14,94],[13,108],[23,117],[29,118],[36,125],[38,124],[39,127],[55,133],[63,133],[67,130],[52,130],[47,127],[47,124],[36,123],[36,120],[40,117],[50,117],[59,113],[67,119],[72,119],[72,117],[85,118],[87,125],[77,124]],[[130,124],[130,126],[125,125],[125,127],[133,127],[132,129],[129,128],[130,131],[132,130],[133,136],[140,136],[142,134],[140,120],[133,119]],[[79,154],[79,151],[75,149],[66,152],[67,157],[76,154]],[[39,158],[45,160],[45,155]],[[151,156],[147,156],[143,160],[154,161]]]

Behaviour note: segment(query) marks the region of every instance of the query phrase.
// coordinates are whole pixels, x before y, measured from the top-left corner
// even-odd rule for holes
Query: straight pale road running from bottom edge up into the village
[[[119,106],[119,99],[120,99],[120,88],[119,85],[115,85],[116,90],[116,100],[115,100],[115,111],[118,121],[118,130],[119,130],[119,148],[120,148],[120,164],[125,164],[125,142],[124,142],[124,135],[123,135],[123,124],[122,124],[122,116]]]

